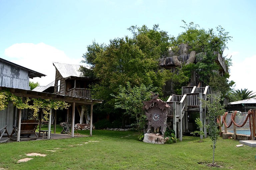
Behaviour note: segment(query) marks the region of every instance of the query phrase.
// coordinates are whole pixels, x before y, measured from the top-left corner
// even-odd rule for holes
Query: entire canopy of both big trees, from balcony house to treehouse
[[[188,85],[193,71],[213,90],[220,91],[222,96],[229,94],[234,82],[228,81],[229,73],[218,73],[219,66],[214,61],[216,53],[223,55],[232,37],[221,26],[216,27],[216,33],[213,29],[201,29],[193,22],[183,23],[185,31],[176,38],[160,30],[157,24],[152,29],[145,25],[131,26],[128,28],[132,33],[131,37],[115,38],[109,44],[93,42],[87,46],[82,62],[89,64],[91,69],[81,68],[80,71],[86,77],[100,80],[92,86],[92,94],[94,98],[104,100],[104,105],[100,106],[103,108],[102,113],[119,112],[117,109],[114,111],[113,96],[118,96],[118,89],[120,86],[126,87],[127,82],[131,88],[140,87],[141,84],[155,88],[155,92],[161,97],[163,87],[170,77],[177,85],[176,89],[179,91],[176,93],[179,94],[181,87]],[[196,53],[202,52],[199,56],[201,59],[196,63],[182,65],[175,73],[160,68],[159,58],[168,56],[169,48],[177,53],[180,43],[188,43],[189,50],[195,50]],[[225,60],[227,65],[231,64],[230,59]]]

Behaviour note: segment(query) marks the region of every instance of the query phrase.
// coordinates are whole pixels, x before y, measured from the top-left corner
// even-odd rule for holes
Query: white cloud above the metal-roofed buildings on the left
[[[41,86],[46,86],[55,80],[53,62],[84,65],[80,63],[81,59],[71,59],[66,56],[64,51],[43,42],[13,44],[5,49],[5,55],[8,57],[6,59],[8,61],[47,75],[42,78],[30,79],[30,81],[39,82]]]

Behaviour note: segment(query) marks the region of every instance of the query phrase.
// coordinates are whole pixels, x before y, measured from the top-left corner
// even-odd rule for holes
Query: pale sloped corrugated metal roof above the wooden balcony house
[[[81,75],[82,72],[78,71],[80,65],[62,64],[58,62],[54,62],[53,65],[60,72],[63,78],[67,78],[70,76],[84,77]]]

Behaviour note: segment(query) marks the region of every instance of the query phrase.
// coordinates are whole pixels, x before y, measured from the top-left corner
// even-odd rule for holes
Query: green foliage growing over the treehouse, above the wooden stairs
[[[213,90],[221,92],[223,97],[228,97],[234,82],[228,81],[229,73],[221,75],[218,73],[219,66],[215,62],[217,54],[214,54],[214,51],[222,56],[223,51],[228,49],[227,43],[232,38],[228,36],[229,32],[225,32],[221,26],[216,27],[217,33],[215,33],[213,29],[206,31],[193,22],[187,24],[183,21],[183,23],[185,26],[182,28],[185,31],[179,34],[177,38],[171,39],[172,49],[177,50],[180,43],[188,43],[190,51],[195,50],[199,55],[196,64],[191,63],[190,66],[182,66],[178,73],[175,73],[176,76],[173,77],[173,82],[176,85],[175,91],[179,92],[181,86],[186,86],[189,83],[191,73],[195,71],[200,81],[210,85]],[[226,59],[228,66],[231,65],[230,61],[231,59]],[[182,83],[179,82],[181,79]]]

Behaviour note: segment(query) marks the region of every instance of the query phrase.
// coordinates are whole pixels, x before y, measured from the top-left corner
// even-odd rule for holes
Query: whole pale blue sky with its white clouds
[[[255,11],[254,0],[0,0],[0,58],[47,75],[30,80],[46,86],[55,80],[53,62],[85,65],[94,41],[109,44],[131,37],[130,26],[154,24],[177,37],[184,20],[229,32],[229,80],[256,92]]]

